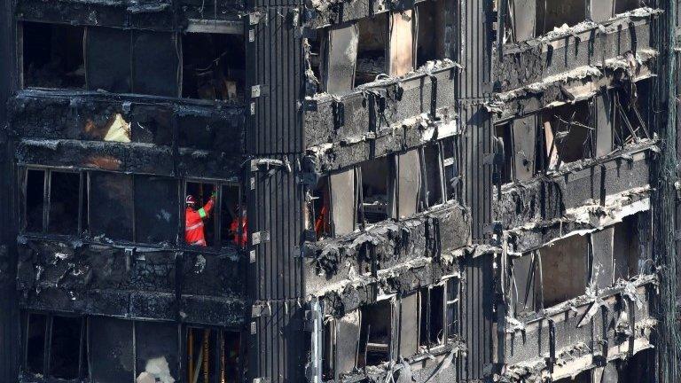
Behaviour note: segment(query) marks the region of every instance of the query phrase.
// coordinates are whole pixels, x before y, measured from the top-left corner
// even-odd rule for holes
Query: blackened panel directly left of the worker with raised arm
[[[135,240],[175,243],[177,181],[161,176],[135,176]]]

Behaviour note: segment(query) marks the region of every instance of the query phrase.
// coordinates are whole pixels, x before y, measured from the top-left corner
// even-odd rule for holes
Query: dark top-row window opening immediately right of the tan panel
[[[417,9],[418,40],[416,46],[417,67],[427,61],[444,59],[445,10],[444,1],[419,3]]]

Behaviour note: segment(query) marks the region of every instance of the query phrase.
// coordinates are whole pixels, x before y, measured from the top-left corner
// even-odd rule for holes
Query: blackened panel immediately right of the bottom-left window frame
[[[133,322],[90,317],[90,379],[101,383],[135,381]]]

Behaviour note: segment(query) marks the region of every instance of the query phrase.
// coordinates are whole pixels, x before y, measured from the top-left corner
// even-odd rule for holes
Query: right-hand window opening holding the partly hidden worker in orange
[[[243,201],[239,184],[223,184],[221,199],[221,239],[223,246],[243,247],[247,244],[248,236],[248,217]]]

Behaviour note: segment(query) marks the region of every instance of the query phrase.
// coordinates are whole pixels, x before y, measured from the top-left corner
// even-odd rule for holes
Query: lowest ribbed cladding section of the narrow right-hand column
[[[466,280],[461,303],[461,336],[468,352],[460,359],[460,380],[483,379],[485,366],[492,363],[493,254],[466,259]]]

